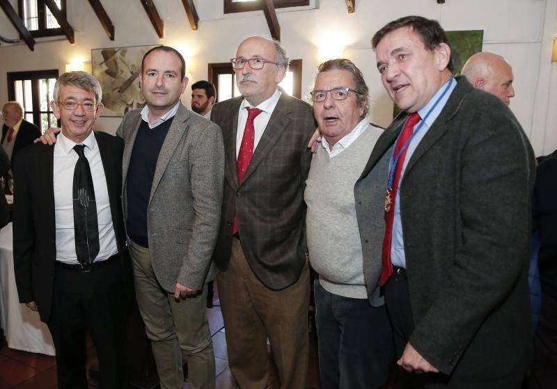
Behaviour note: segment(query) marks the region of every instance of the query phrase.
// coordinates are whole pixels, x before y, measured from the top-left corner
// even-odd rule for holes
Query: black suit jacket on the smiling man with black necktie
[[[125,289],[132,296],[132,269],[125,246],[120,198],[124,142],[104,132],[95,132],[95,138],[107,178],[116,244],[123,260]],[[19,152],[13,166],[13,252],[17,292],[21,303],[36,301],[40,319],[45,322],[52,308],[56,264],[53,168],[54,145],[42,143]],[[68,174],[73,175],[73,172]]]

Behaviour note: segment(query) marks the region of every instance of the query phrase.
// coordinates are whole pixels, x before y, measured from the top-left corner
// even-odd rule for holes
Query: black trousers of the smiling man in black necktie
[[[88,387],[86,331],[97,351],[100,388],[125,387],[125,318],[120,258],[88,272],[56,266],[52,314],[47,324],[56,348],[58,388]]]

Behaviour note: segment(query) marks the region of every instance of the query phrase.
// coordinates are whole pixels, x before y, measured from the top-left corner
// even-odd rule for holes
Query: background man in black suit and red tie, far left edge
[[[2,108],[2,146],[10,161],[17,150],[33,144],[40,136],[40,129],[33,123],[24,120],[23,109],[18,102],[7,102]]]

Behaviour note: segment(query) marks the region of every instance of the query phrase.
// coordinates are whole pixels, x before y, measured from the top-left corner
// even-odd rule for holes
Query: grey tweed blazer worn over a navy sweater
[[[126,114],[116,132],[125,143],[125,220],[127,171],[140,124],[141,110],[136,109]],[[221,219],[223,175],[221,129],[180,103],[159,152],[147,209],[152,268],[168,292],[174,292],[177,282],[201,290],[215,276],[211,258]]]

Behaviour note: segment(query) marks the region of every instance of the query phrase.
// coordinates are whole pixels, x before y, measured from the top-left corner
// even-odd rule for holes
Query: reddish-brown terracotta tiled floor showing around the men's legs
[[[216,289],[216,285],[215,285]],[[217,293],[215,291],[215,293]],[[228,368],[226,355],[226,337],[218,305],[218,294],[215,295],[214,308],[207,309],[207,317],[213,338],[214,357],[217,375],[217,389],[235,389],[235,381]],[[315,335],[311,335],[311,360],[308,374],[307,389],[321,389],[317,368],[317,348]],[[88,366],[97,362],[95,347],[91,340],[87,341]],[[278,389],[276,376],[269,382],[269,389]],[[55,389],[56,388],[56,360],[53,356],[32,354],[25,351],[8,349],[5,342],[0,346],[0,389]],[[89,379],[89,388],[97,388],[97,381]],[[187,381],[184,388],[189,389]]]

